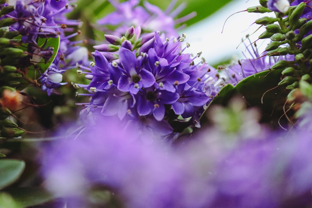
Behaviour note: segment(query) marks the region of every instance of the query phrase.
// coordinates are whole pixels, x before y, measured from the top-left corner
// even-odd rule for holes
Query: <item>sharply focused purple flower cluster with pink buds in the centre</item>
[[[128,31],[132,31],[131,38],[136,36],[133,27]],[[77,70],[78,74],[86,74],[91,79],[87,86],[75,84],[94,93],[85,107],[104,116],[118,115],[121,120],[148,122],[151,126],[162,122],[167,126],[164,129],[170,129],[167,122],[176,120],[179,115],[181,119],[193,117],[198,122],[204,105],[212,99],[213,90],[207,90],[207,86],[217,77],[213,76],[215,71],[211,71],[214,69],[202,60],[194,63],[200,54],[192,58],[183,53],[189,46],[187,43],[181,48],[185,37],[165,39],[154,32],[130,41],[125,39],[121,45],[112,45],[116,36],[105,37],[111,44],[96,46],[104,51],[94,52],[95,62],[90,69],[80,66],[90,72]],[[134,50],[137,41],[141,41],[141,46]],[[108,52],[113,46],[116,52]],[[108,61],[114,56],[118,59]]]

